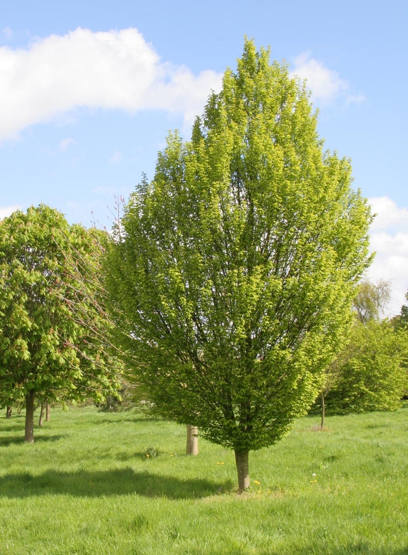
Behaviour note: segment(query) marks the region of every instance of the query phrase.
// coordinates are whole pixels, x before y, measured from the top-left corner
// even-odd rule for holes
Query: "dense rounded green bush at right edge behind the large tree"
[[[406,336],[389,321],[357,321],[349,345],[331,367],[334,385],[326,395],[330,413],[395,410],[408,388],[401,364],[408,354]]]

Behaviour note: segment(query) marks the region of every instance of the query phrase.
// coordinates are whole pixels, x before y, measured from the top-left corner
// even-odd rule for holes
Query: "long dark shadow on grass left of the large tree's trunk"
[[[230,480],[180,480],[147,471],[135,472],[132,468],[95,472],[49,470],[38,476],[29,472],[3,476],[0,480],[0,496],[22,498],[68,494],[74,497],[100,497],[135,494],[145,497],[192,499],[216,495],[218,491],[229,491],[232,487]]]

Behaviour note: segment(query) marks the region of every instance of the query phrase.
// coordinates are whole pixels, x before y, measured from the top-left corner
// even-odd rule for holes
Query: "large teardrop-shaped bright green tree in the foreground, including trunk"
[[[170,134],[106,261],[119,340],[163,413],[250,450],[303,415],[351,320],[370,208],[299,80],[245,42],[192,140]]]

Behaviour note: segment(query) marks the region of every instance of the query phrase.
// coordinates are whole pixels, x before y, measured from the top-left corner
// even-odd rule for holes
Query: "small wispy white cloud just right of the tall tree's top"
[[[303,52],[295,58],[291,75],[306,79],[306,86],[311,90],[315,100],[332,102],[339,97],[345,97],[348,104],[365,100],[363,94],[346,94],[349,83],[345,79],[341,79],[338,72],[312,58],[309,51]]]

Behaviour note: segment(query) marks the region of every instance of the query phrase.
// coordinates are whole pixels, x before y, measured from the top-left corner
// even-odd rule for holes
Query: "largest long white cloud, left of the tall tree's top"
[[[163,63],[137,29],[36,39],[0,48],[0,140],[78,107],[200,113],[221,75]]]

